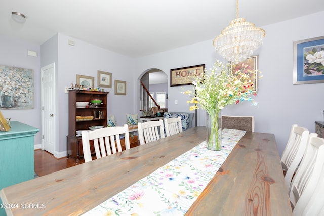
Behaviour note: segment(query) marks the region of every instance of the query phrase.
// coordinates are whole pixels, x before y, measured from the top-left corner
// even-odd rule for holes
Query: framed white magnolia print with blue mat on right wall
[[[324,36],[294,41],[293,84],[324,82]]]

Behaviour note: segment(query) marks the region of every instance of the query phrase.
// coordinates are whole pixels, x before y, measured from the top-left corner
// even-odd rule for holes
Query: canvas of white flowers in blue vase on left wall
[[[0,65],[0,109],[33,109],[34,70]]]

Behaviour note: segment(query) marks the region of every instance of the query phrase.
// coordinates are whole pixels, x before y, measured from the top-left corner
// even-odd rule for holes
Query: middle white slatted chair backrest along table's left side
[[[138,123],[138,137],[141,145],[164,138],[163,120]]]

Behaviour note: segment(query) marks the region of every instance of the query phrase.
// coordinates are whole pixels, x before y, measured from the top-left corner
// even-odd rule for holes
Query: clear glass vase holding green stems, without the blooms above
[[[222,115],[221,110],[207,112],[207,149],[222,150]]]

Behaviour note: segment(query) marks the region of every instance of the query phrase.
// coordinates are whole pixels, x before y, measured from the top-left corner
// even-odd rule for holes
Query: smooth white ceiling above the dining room
[[[324,11],[322,0],[240,0],[257,27]],[[26,16],[24,24],[11,12]],[[130,57],[211,40],[236,17],[235,0],[1,0],[0,34],[43,44],[62,33]]]

